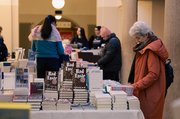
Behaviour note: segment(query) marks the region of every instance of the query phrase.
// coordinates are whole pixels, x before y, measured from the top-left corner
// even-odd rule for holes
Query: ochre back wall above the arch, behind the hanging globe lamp
[[[19,0],[20,22],[39,23],[48,14],[54,14],[51,0]],[[43,4],[42,4],[43,2]],[[96,0],[65,0],[63,17],[70,19],[88,31],[88,24],[96,24]],[[86,32],[87,34],[88,32]],[[88,35],[88,34],[87,34]]]

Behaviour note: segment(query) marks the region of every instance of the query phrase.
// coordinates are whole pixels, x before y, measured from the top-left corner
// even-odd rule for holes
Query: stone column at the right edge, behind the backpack
[[[180,1],[165,0],[165,19],[164,19],[164,42],[169,51],[174,67],[174,82],[166,97],[164,115],[165,119],[171,119],[171,103],[180,97]]]

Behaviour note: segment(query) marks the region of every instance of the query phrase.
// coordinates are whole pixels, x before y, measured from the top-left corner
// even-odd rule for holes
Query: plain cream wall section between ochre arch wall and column
[[[121,0],[97,0],[98,25],[106,26],[116,35],[121,36]]]

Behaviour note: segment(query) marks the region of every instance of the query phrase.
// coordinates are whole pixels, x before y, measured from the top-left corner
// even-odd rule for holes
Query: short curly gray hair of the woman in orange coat
[[[129,30],[129,35],[132,37],[134,35],[145,36],[146,34],[153,34],[150,27],[143,21],[137,21]]]

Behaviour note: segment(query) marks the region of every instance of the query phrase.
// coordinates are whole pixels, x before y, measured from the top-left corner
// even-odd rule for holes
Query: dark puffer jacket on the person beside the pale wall
[[[97,63],[104,72],[120,71],[122,66],[121,43],[114,33],[111,33],[107,39],[102,57]]]

